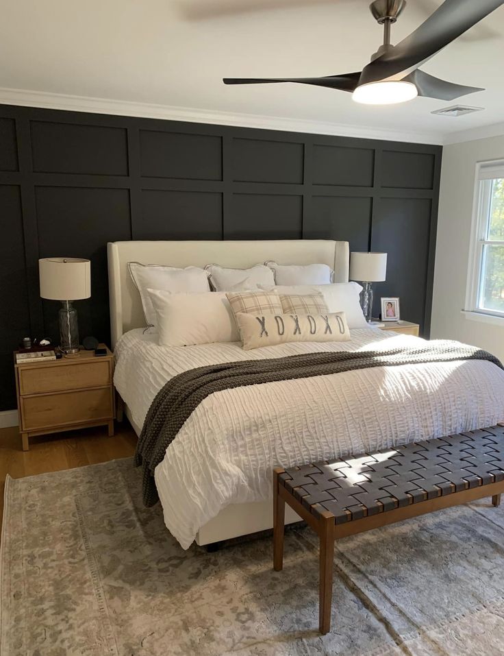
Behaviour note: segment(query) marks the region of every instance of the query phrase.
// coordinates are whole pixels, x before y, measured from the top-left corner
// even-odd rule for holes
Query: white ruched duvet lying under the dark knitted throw
[[[418,337],[373,328],[343,343],[238,343],[167,348],[131,330],[115,348],[114,383],[142,426],[166,380],[193,367],[304,352],[392,348]],[[155,470],[164,521],[181,546],[230,503],[271,496],[275,465],[375,451],[504,420],[504,372],[464,361],[314,376],[238,387],[207,397]]]

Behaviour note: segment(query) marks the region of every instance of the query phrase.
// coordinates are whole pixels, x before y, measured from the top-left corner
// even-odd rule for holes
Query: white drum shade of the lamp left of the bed
[[[52,257],[38,260],[40,296],[55,301],[76,301],[91,295],[91,263],[81,258]]]

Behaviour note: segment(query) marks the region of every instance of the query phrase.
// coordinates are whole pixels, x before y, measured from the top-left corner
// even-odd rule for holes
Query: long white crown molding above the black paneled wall
[[[346,123],[288,119],[286,117],[262,116],[260,114],[231,114],[215,110],[200,110],[188,107],[92,98],[25,89],[0,88],[0,104],[41,107],[72,112],[91,112],[93,114],[114,114],[118,116],[164,119],[167,121],[188,121],[189,123],[236,125],[239,127],[256,127],[262,130],[331,134],[336,136],[379,139],[382,141],[406,141],[428,144],[443,143],[442,136],[436,132],[409,132],[408,130],[391,130],[380,127],[348,125]]]

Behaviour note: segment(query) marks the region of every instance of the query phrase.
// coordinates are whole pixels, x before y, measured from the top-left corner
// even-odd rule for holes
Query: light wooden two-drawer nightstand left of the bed
[[[106,348],[105,344],[100,344]],[[114,355],[79,351],[48,363],[16,364],[19,430],[23,451],[29,437],[62,430],[108,426],[114,435]]]

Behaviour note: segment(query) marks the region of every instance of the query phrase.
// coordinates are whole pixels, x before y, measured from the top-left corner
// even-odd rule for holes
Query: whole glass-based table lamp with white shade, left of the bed
[[[81,258],[44,258],[38,260],[40,296],[61,301],[60,349],[64,353],[79,351],[77,310],[72,302],[91,295],[91,263]]]

